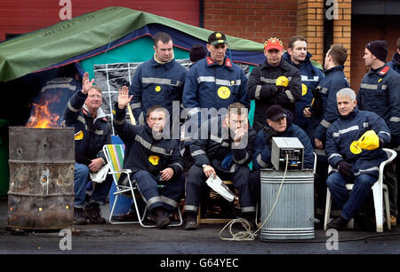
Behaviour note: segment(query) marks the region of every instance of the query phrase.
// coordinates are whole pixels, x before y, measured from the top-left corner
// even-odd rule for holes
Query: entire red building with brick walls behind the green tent
[[[398,0],[2,0],[0,41],[111,5],[259,43],[265,37],[277,36],[286,45],[292,35],[304,35],[313,59],[321,64],[329,44],[342,43],[349,53],[345,72],[356,90],[366,72],[364,45],[386,39],[391,58],[400,37]],[[330,16],[334,18],[328,19]]]

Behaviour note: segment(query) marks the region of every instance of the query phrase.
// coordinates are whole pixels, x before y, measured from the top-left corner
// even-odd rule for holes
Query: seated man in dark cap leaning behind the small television
[[[259,131],[254,144],[252,157],[252,172],[250,185],[253,198],[260,203],[260,168],[272,167],[271,144],[272,137],[297,137],[304,146],[303,168],[314,167],[314,154],[311,142],[302,128],[292,124],[292,113],[284,110],[281,105],[271,105],[267,111],[268,127]]]

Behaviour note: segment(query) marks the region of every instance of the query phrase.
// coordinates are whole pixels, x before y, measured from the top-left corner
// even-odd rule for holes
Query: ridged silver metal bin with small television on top
[[[314,231],[313,170],[284,171],[261,169],[261,223],[271,211],[284,178],[276,206],[260,229],[260,239],[311,239]]]

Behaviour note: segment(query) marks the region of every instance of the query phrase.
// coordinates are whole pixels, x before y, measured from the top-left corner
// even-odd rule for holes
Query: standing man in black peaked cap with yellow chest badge
[[[188,145],[194,140],[192,137],[197,128],[211,117],[209,109],[227,113],[228,106],[236,102],[250,108],[247,77],[242,68],[226,57],[227,37],[223,33],[213,32],[208,36],[206,47],[210,55],[198,60],[196,66],[190,68],[183,89],[183,106],[188,113],[188,120],[183,127],[187,167],[194,163]],[[202,114],[202,110],[205,114]]]

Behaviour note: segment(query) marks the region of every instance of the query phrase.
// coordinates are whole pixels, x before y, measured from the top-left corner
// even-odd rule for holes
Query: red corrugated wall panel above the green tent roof
[[[0,1],[0,41],[5,34],[23,34],[60,22],[63,7],[54,0],[2,0]],[[65,2],[65,1],[64,1]],[[95,12],[108,6],[124,6],[141,12],[176,19],[192,26],[199,26],[199,0],[85,0],[73,1],[72,16]]]

